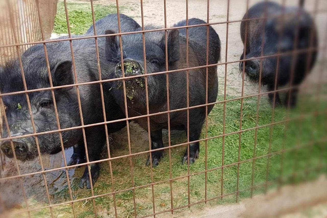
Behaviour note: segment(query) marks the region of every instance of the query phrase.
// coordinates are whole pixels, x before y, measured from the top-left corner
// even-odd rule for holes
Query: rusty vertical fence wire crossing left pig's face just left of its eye
[[[9,8],[10,8],[10,2],[9,2],[9,0],[7,0],[7,4],[9,6]],[[14,32],[14,23],[13,23],[13,20],[12,20],[13,19],[13,17],[12,17],[13,15],[12,15],[11,9],[9,9],[9,16],[10,16],[11,28],[12,28],[12,30]],[[15,43],[17,44],[18,43],[18,40],[17,40],[16,34],[14,34],[14,40],[15,40]],[[20,68],[21,68],[21,74],[22,74],[22,79],[23,79],[23,83],[24,83],[24,89],[26,91],[27,90],[27,85],[26,85],[26,81],[25,81],[24,68],[23,68],[23,63],[22,63],[22,59],[21,59],[21,55],[20,55],[19,46],[16,46],[16,51],[17,51],[17,56],[18,56]],[[31,104],[30,104],[30,100],[29,100],[28,94],[27,93],[25,93],[25,94],[26,94],[26,101],[27,101],[28,111],[29,111],[29,114],[30,114],[30,119],[31,119],[32,127],[33,127],[33,133],[35,134],[36,133],[36,128],[35,128],[35,123],[34,123],[34,119],[33,119],[33,116],[32,116]],[[41,157],[41,152],[40,152],[40,146],[39,146],[38,137],[37,136],[34,136],[34,138],[35,138],[35,142],[36,142],[36,147],[37,147],[38,155],[39,155],[39,158],[40,158],[41,169],[43,171],[44,170],[44,167],[43,167],[43,162],[42,162],[42,157]],[[48,202],[49,202],[49,205],[50,205],[51,216],[53,217],[53,211],[52,211],[52,207],[51,207],[51,200],[50,200],[50,196],[49,196],[48,184],[46,182],[45,173],[42,173],[42,175],[43,175],[43,180],[44,180],[44,185],[45,185],[45,191],[46,191]]]

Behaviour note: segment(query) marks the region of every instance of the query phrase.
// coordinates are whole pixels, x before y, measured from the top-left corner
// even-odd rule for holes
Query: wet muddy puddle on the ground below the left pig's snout
[[[73,148],[65,150],[65,157],[67,163],[70,161],[72,154]],[[44,170],[56,169],[65,166],[61,152],[54,155],[43,155],[42,162]],[[18,161],[18,166],[21,174],[42,171],[39,158],[36,158],[32,161]],[[73,181],[76,178],[78,179],[81,176],[79,174],[82,174],[84,168],[80,169],[81,170],[76,170],[76,168],[68,169],[69,182],[71,185],[73,184]],[[4,170],[1,171],[1,177],[11,177],[15,175],[18,175],[15,161],[13,159],[6,158]],[[47,172],[44,175],[51,201],[53,203],[60,201],[60,193],[63,193],[68,189],[66,170],[54,170]],[[22,180],[24,191],[26,193],[26,198],[29,203],[33,204],[33,202],[48,202],[42,173],[27,175],[20,178]],[[2,202],[4,202],[5,208],[10,209],[13,207],[24,207],[25,201],[22,193],[23,192],[19,178],[9,178],[0,181],[0,197]]]

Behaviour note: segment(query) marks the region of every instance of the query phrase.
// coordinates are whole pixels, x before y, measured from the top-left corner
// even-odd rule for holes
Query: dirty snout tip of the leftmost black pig
[[[24,159],[29,152],[29,146],[24,138],[12,139],[17,159]],[[10,140],[3,141],[0,145],[1,151],[9,158],[13,157]]]

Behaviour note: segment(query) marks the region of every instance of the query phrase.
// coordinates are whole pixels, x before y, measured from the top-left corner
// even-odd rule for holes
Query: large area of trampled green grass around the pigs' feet
[[[229,99],[233,97],[229,96]],[[267,102],[266,97],[262,97],[260,101],[258,126],[271,123],[272,110]],[[223,100],[219,97],[218,100]],[[299,102],[301,104],[301,102]],[[257,97],[244,99],[242,129],[255,127],[256,124],[256,105]],[[239,130],[240,126],[240,106],[241,101],[230,101],[226,103],[226,129],[225,133],[232,133]],[[314,107],[313,107],[314,106]],[[294,183],[306,179],[316,178],[320,172],[326,173],[326,151],[322,151],[323,144],[314,143],[305,146],[313,139],[321,139],[327,132],[325,125],[327,120],[326,113],[318,114],[317,117],[305,116],[317,110],[322,112],[327,108],[326,104],[317,105],[317,102],[309,100],[305,104],[301,104],[301,108],[292,110],[289,117],[298,117],[304,115],[302,119],[289,122],[287,126],[284,123],[274,125],[272,128],[272,141],[270,153],[278,152],[283,149],[290,149],[299,146],[299,149],[289,150],[284,154],[283,170],[281,171],[282,155],[272,154],[269,156],[268,181],[271,183],[268,188],[274,188],[278,185],[279,175],[282,173],[281,181],[283,183]],[[274,121],[282,121],[286,117],[286,110],[276,108]],[[287,132],[286,141],[284,143],[284,133]],[[172,132],[171,145],[183,143],[186,141],[184,133]],[[208,137],[223,134],[223,104],[216,104],[208,116]],[[165,135],[165,134],[164,134]],[[245,131],[241,134],[240,161],[251,159],[253,157],[255,129]],[[166,136],[164,136],[165,145]],[[205,126],[201,138],[205,138]],[[268,154],[270,141],[270,126],[257,130],[257,144],[255,156],[260,157]],[[131,144],[133,147],[134,145]],[[238,146],[239,134],[225,136],[224,165],[238,162]],[[301,147],[302,146],[302,147]],[[147,150],[146,143],[141,150]],[[222,137],[208,140],[207,142],[207,169],[221,167],[222,162]],[[127,142],[123,149],[128,149]],[[187,165],[181,165],[181,158],[186,147],[177,147],[171,149],[172,156],[172,177],[180,177],[187,175]],[[111,150],[115,155],[115,149]],[[106,152],[104,152],[106,153]],[[168,149],[164,151],[165,155],[158,167],[153,169],[153,180],[159,182],[168,180],[169,176],[169,154]],[[117,156],[117,155],[116,155]],[[147,154],[136,155],[132,158],[133,174],[135,187],[151,183],[150,168],[145,166]],[[253,194],[263,193],[267,175],[268,156],[258,158],[254,161],[253,185],[259,186],[253,189]],[[322,165],[320,165],[322,163]],[[252,164],[253,161],[245,161],[239,164],[239,196],[240,198],[250,197],[250,187],[252,186]],[[120,158],[112,160],[113,180],[115,191],[125,190],[132,187],[129,158]],[[190,165],[190,173],[197,173],[205,170],[205,141],[200,142],[200,157],[192,165]],[[78,176],[81,176],[82,174]],[[213,170],[205,173],[190,176],[190,203],[204,200],[205,178],[207,180],[207,199],[220,196],[221,194],[221,169]],[[90,190],[78,189],[78,179],[73,184],[74,199],[80,199],[91,196]],[[223,176],[223,194],[229,194],[237,191],[237,164],[224,168]],[[263,185],[263,186],[260,186]],[[243,191],[245,190],[245,191]],[[94,194],[105,194],[112,192],[112,184],[110,177],[109,163],[101,163],[101,172],[94,186]],[[138,216],[144,216],[153,213],[152,204],[152,188],[147,186],[135,189],[135,204]],[[115,194],[118,217],[134,216],[133,191],[122,191]],[[188,179],[187,177],[172,181],[173,207],[180,207],[188,204]],[[235,194],[209,201],[208,205],[217,205],[235,202]],[[54,202],[64,202],[70,200],[68,189],[61,191],[57,195],[52,196]],[[154,199],[156,212],[170,209],[170,182],[164,182],[154,185]],[[95,199],[95,205],[98,213],[104,213],[114,216],[113,196],[106,195]],[[65,205],[67,207],[67,205]],[[205,207],[204,203],[192,206],[193,208]],[[60,209],[60,207],[58,207]],[[78,217],[93,217],[92,200],[76,202]],[[71,207],[70,207],[71,209]],[[186,208],[174,211],[179,213]],[[72,214],[72,210],[65,212]],[[59,213],[62,211],[58,210]]]

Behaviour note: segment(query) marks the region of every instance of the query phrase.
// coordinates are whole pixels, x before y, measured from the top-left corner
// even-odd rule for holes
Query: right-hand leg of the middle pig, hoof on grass
[[[190,141],[196,141],[200,138],[202,124],[203,121],[192,124],[190,120]],[[200,143],[199,142],[190,143],[190,163],[195,162],[195,160],[199,157],[199,152],[200,152]],[[182,159],[182,164],[184,163],[187,163],[187,148],[184,157]]]

